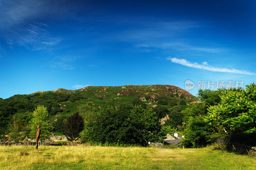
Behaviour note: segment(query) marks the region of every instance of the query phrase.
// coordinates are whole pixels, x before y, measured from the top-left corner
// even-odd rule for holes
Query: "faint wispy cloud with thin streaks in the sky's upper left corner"
[[[10,48],[23,46],[29,50],[52,50],[62,40],[49,33],[50,27],[38,19],[61,16],[68,13],[66,2],[44,0],[0,0],[0,38],[3,38]]]

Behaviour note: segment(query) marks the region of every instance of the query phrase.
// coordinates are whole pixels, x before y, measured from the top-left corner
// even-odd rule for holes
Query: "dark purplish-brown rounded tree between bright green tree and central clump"
[[[79,137],[80,132],[84,129],[84,119],[78,112],[74,112],[68,116],[66,123],[63,126],[62,132],[68,138],[68,141],[73,142]]]

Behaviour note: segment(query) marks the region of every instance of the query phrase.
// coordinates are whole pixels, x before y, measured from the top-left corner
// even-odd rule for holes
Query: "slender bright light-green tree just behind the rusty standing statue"
[[[37,125],[40,125],[41,134],[40,139],[44,140],[49,137],[52,127],[49,124],[49,113],[46,107],[38,105],[33,112],[33,118],[31,120],[31,132],[30,137],[36,138]]]

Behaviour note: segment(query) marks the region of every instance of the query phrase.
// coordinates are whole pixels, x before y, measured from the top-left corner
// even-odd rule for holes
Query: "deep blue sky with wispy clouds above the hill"
[[[255,81],[255,1],[0,0],[0,97]]]

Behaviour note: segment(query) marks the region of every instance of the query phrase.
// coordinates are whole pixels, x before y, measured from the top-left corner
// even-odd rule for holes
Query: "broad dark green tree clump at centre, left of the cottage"
[[[151,108],[121,105],[104,108],[88,127],[88,140],[101,143],[147,145],[163,140],[160,121]],[[96,121],[97,120],[97,121]]]

